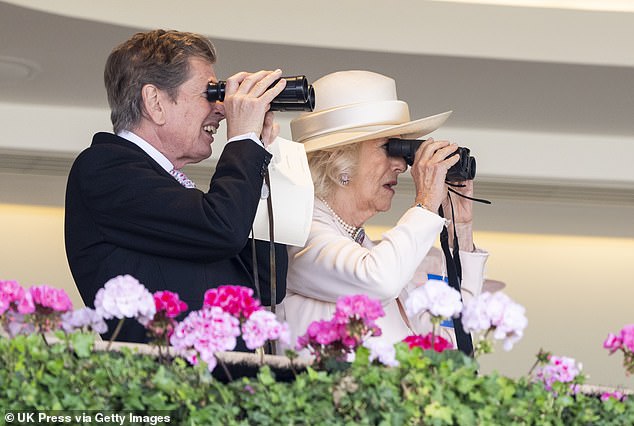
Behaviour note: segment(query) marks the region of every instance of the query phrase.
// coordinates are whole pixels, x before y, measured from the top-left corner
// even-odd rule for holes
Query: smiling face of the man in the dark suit
[[[178,168],[209,158],[213,134],[225,118],[222,102],[207,101],[209,81],[218,81],[213,65],[190,59],[190,76],[178,88],[175,101],[164,98],[166,119],[158,132],[164,153]]]

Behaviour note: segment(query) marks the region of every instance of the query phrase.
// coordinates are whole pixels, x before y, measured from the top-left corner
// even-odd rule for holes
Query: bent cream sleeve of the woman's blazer
[[[292,292],[325,302],[342,295],[396,298],[412,278],[444,224],[413,207],[381,242],[366,248],[340,235],[334,224],[313,220],[303,249],[291,249],[287,285]]]

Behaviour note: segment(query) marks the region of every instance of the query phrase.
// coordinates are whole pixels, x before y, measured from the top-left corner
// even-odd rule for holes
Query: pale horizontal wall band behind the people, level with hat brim
[[[110,131],[106,109],[20,105],[0,102],[0,150],[22,149],[78,153],[95,131]],[[291,138],[293,115],[278,113],[280,136]],[[28,129],[28,131],[26,131]],[[478,176],[489,178],[592,181],[606,187],[634,188],[634,141],[628,137],[583,134],[464,129],[445,126],[434,132],[468,146],[477,158]],[[224,142],[224,126],[216,135],[217,159]]]

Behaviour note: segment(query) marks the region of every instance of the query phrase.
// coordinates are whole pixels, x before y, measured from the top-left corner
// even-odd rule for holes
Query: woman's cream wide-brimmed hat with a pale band
[[[400,136],[419,138],[438,129],[451,111],[410,121],[396,83],[371,71],[339,71],[313,83],[315,108],[291,121],[295,142],[306,152]]]

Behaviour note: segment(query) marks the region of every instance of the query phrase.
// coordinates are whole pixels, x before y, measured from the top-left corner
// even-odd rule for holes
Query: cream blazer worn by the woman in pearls
[[[325,204],[315,199],[306,245],[288,246],[287,292],[277,309],[280,320],[289,324],[291,347],[311,322],[331,319],[335,302],[344,295],[365,294],[381,301],[385,311],[378,321],[381,340],[396,343],[408,335],[431,331],[424,316],[405,320],[397,299],[404,306],[409,292],[427,281],[427,273],[443,274],[442,252],[430,249],[444,224],[440,216],[412,207],[380,242],[366,238],[359,245]],[[465,301],[480,293],[487,257],[481,250],[460,253]],[[443,335],[455,340],[452,332],[445,330]]]

